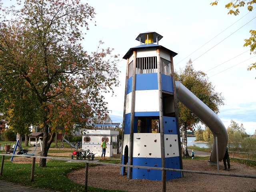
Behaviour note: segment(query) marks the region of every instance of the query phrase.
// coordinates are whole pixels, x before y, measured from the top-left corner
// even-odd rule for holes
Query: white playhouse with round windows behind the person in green
[[[90,150],[95,156],[101,156],[102,148],[100,144],[106,139],[106,157],[118,154],[119,131],[114,130],[84,130],[82,136],[82,150]]]

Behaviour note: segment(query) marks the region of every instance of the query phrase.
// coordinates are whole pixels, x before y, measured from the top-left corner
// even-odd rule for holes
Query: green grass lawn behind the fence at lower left
[[[84,185],[72,182],[66,177],[68,172],[83,168],[85,163],[66,163],[60,160],[49,160],[45,168],[38,167],[38,164],[36,164],[34,182],[30,182],[32,164],[15,164],[10,162],[9,159],[10,157],[8,156],[4,159],[3,174],[0,176],[0,180],[6,180],[24,186],[46,188],[61,192],[85,192]],[[2,161],[2,156],[0,156],[0,161]],[[101,161],[104,162],[103,160]],[[119,163],[120,160],[105,160],[105,162]],[[89,166],[94,166],[94,164],[89,164]],[[84,175],[81,175],[81,177],[84,177]],[[104,190],[88,186],[88,192],[124,191]]]

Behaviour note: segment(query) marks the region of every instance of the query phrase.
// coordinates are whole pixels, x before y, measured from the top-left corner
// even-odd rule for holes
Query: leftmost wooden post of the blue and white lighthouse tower
[[[121,151],[120,151],[120,164],[122,164],[122,155],[123,155],[123,149],[124,149],[124,123],[125,123],[125,114],[126,114],[126,95],[127,95],[128,78],[129,78],[129,59],[127,59],[127,63],[126,63],[126,77],[125,77],[125,89],[124,89],[124,113],[123,113],[123,125],[122,125],[122,142],[121,142]],[[120,167],[120,175],[121,174],[122,174],[122,167]]]

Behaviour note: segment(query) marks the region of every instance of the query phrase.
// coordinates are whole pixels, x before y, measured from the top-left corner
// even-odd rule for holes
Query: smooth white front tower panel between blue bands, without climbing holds
[[[159,111],[158,90],[136,91],[135,112]]]

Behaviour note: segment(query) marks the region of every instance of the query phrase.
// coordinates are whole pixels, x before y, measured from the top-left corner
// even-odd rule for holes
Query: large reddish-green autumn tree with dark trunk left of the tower
[[[119,84],[118,56],[100,47],[88,54],[80,44],[95,15],[88,4],[18,0],[18,6],[0,7],[0,100],[3,93],[18,98],[20,90],[36,98],[34,112],[44,133],[41,156],[47,156],[56,126],[92,128],[92,118],[104,114],[103,94],[113,94]],[[14,85],[17,89],[8,89]],[[46,166],[46,159],[39,166]]]

